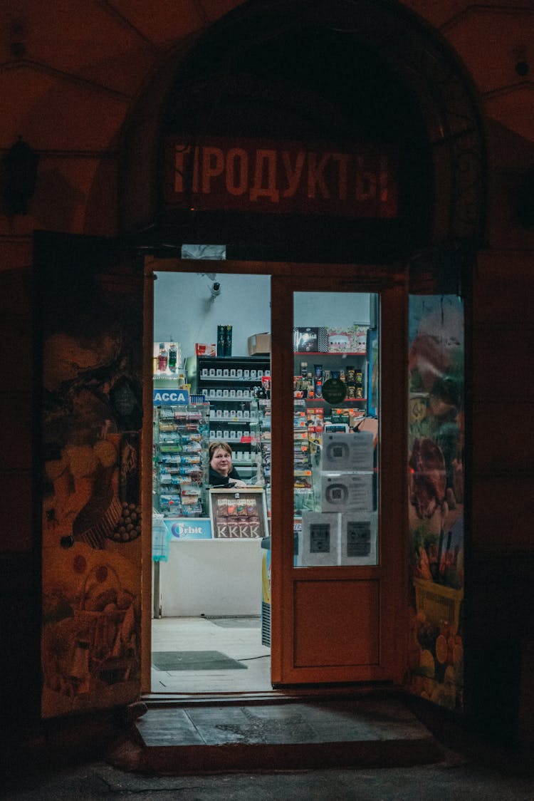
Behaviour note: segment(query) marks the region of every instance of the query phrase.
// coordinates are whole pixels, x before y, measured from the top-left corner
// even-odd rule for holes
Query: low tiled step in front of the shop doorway
[[[130,764],[120,764],[120,752],[110,761],[179,775],[409,767],[444,759],[432,734],[395,696],[164,703],[135,721],[135,743]]]

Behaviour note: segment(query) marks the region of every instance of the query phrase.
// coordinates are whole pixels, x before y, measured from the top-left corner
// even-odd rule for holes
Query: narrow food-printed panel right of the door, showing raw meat
[[[464,310],[411,296],[409,670],[413,693],[461,709],[464,687]]]

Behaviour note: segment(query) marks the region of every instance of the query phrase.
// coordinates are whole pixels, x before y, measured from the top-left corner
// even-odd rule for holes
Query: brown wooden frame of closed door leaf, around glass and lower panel
[[[277,280],[282,277],[282,280]],[[324,670],[319,667],[302,668],[292,666],[295,636],[295,598],[294,588],[299,581],[331,581],[350,579],[355,569],[350,567],[295,568],[293,559],[293,498],[284,488],[292,486],[293,465],[284,449],[292,441],[292,417],[287,415],[287,398],[292,394],[293,354],[290,348],[293,320],[292,290],[309,292],[317,288],[324,292],[380,292],[384,320],[391,320],[394,308],[397,327],[389,337],[387,348],[381,354],[381,373],[395,375],[395,381],[381,381],[381,433],[379,439],[379,477],[387,486],[387,505],[381,504],[380,531],[386,529],[396,532],[387,542],[387,559],[380,559],[378,568],[359,568],[360,578],[381,575],[381,580],[389,593],[387,606],[390,615],[383,615],[383,641],[395,642],[390,654],[382,653],[380,666],[373,669],[355,671],[350,668]],[[271,396],[271,415],[279,425],[272,426],[271,459],[279,465],[273,471],[271,480],[271,509],[273,529],[280,527],[278,536],[274,532],[271,546],[271,580],[273,606],[271,610],[272,643],[271,680],[274,686],[287,686],[302,682],[347,682],[347,681],[395,681],[399,683],[406,667],[406,641],[408,631],[406,599],[408,598],[408,510],[406,437],[407,437],[407,369],[408,358],[407,320],[408,320],[408,282],[404,270],[371,268],[352,265],[335,265],[332,270],[311,269],[306,265],[304,272],[292,272],[291,279],[274,276],[271,287],[272,298],[272,336],[271,371],[279,376],[273,381]],[[402,311],[399,313],[399,308]],[[290,308],[291,307],[291,308]],[[382,336],[382,340],[384,337]],[[387,337],[386,337],[387,340]],[[285,410],[285,413],[284,413]],[[397,414],[395,415],[395,410]],[[291,419],[290,419],[291,418]],[[399,425],[400,421],[400,425]],[[404,423],[403,423],[404,421]],[[387,454],[395,454],[395,460]],[[384,493],[380,493],[384,497]],[[290,530],[291,529],[291,530]],[[381,537],[380,542],[383,542]],[[277,548],[277,543],[282,543]],[[291,566],[291,567],[288,567]],[[275,599],[279,600],[277,606]],[[283,610],[285,610],[283,612]],[[398,636],[398,632],[401,636]]]

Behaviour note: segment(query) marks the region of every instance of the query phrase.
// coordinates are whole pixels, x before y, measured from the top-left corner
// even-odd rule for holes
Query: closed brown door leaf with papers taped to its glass
[[[339,328],[343,316],[357,319],[351,309],[362,298],[375,333],[363,345]],[[272,682],[398,682],[407,586],[404,273],[291,265],[291,275],[273,276],[272,305]],[[303,374],[311,374],[307,398],[295,388]]]

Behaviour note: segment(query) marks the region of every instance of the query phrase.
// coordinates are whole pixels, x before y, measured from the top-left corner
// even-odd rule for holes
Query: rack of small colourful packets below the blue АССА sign
[[[164,517],[207,515],[209,406],[156,406],[153,506]]]

